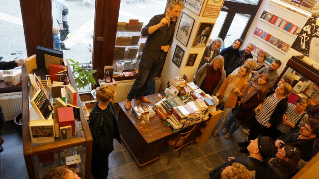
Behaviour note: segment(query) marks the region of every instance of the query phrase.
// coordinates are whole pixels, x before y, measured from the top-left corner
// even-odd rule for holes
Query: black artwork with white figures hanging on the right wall
[[[318,59],[318,50],[315,50],[316,48],[318,49],[318,46],[316,45],[318,45],[317,43],[318,43],[318,36],[319,36],[318,26],[315,25],[316,20],[317,20],[316,18],[312,18],[312,17],[308,19],[306,24],[301,29],[299,35],[293,42],[293,45],[291,46],[291,48],[297,50],[301,54],[304,54],[313,60]],[[312,42],[312,40],[314,42]],[[315,54],[311,52],[312,57],[309,56],[310,49],[315,51]],[[317,58],[314,58],[315,56]]]

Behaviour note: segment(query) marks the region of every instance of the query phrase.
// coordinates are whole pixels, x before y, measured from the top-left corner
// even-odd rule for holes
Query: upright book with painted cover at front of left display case
[[[54,142],[53,119],[29,121],[29,129],[33,144]]]

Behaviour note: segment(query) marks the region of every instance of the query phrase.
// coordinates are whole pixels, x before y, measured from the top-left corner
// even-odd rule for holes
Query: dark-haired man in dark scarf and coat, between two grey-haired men
[[[219,53],[225,59],[224,68],[226,71],[226,76],[231,74],[234,71],[234,69],[237,68],[237,65],[240,60],[239,47],[241,46],[241,44],[242,39],[235,39],[232,46],[223,48]]]

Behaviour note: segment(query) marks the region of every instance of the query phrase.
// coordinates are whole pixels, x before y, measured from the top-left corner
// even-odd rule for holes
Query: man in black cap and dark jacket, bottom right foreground
[[[251,140],[247,147],[250,156],[248,159],[233,159],[215,168],[209,173],[210,179],[220,179],[220,174],[227,166],[234,162],[240,163],[248,168],[252,173],[255,170],[256,179],[275,178],[275,171],[268,165],[268,161],[276,153],[274,141],[270,137],[260,134],[256,140]]]

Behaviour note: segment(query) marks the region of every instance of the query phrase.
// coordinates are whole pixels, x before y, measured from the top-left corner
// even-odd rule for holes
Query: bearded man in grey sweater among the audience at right
[[[269,90],[271,90],[274,87],[274,84],[278,78],[277,69],[281,66],[280,60],[275,60],[271,63],[270,67],[263,67],[260,70],[258,70],[252,78],[257,78],[259,74],[266,73],[269,75]]]

